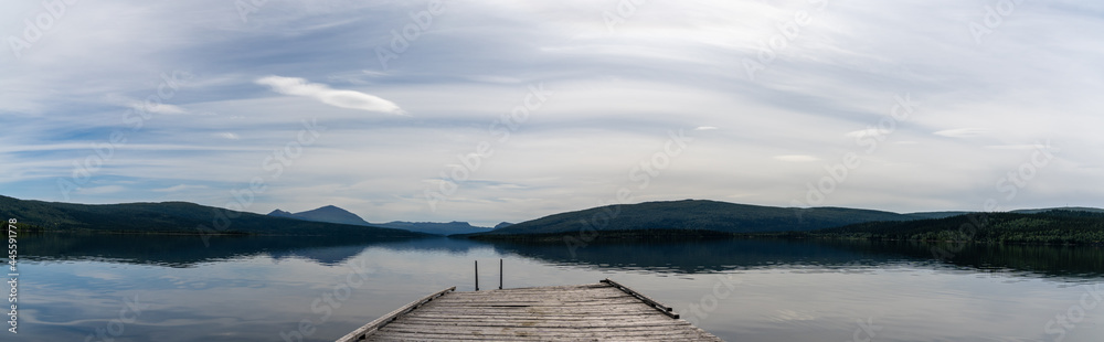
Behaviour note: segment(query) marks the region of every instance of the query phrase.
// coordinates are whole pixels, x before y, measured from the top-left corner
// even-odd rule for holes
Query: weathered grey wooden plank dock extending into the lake
[[[620,284],[445,289],[344,335],[354,341],[721,341]]]

